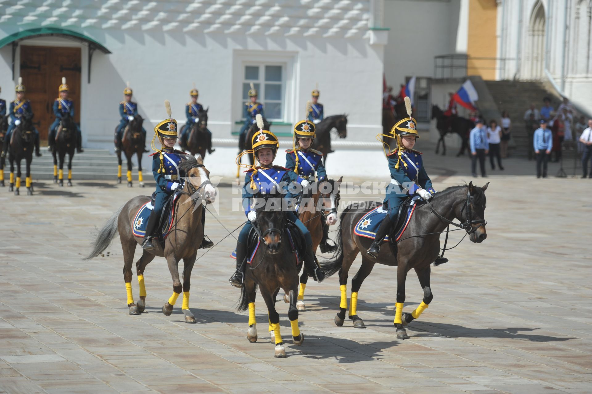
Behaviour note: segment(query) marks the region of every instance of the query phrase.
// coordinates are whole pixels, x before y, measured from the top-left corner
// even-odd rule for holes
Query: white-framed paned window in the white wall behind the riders
[[[284,63],[243,63],[242,102],[249,101],[250,84],[257,89],[257,100],[269,121],[283,121],[285,116],[286,66]],[[241,106],[241,108],[242,108]]]

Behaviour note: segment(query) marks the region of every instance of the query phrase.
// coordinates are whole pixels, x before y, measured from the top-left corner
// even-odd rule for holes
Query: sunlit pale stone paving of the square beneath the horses
[[[429,168],[437,189],[470,180],[466,159],[439,163]],[[334,325],[336,276],[309,281],[300,347],[278,304],[285,359],[273,357],[260,296],[259,341],[246,339],[247,313],[236,312],[239,292],[227,283],[231,237],[196,263],[194,325],[180,302],[161,312],[172,290],[163,258],[147,267],[140,316],[128,315],[118,238],[104,256],[81,260],[94,226],[152,185],[36,182],[33,197],[0,190],[0,393],[590,393],[592,181],[537,180],[526,165],[507,161],[488,178],[488,238],[463,242],[433,268],[435,298],[408,326],[410,339],[397,340],[392,326],[395,269],[377,265],[359,292],[366,329]],[[244,214],[228,208],[230,191],[220,188],[219,219],[236,228]],[[208,215],[207,233],[217,242],[226,230]],[[423,293],[414,276],[407,283],[410,311]],[[137,297],[135,275],[132,284]]]

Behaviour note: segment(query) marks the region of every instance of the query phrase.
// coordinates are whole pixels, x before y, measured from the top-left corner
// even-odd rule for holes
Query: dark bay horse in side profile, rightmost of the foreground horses
[[[353,260],[359,252],[362,254],[362,265],[352,280],[352,294],[349,306],[349,318],[355,328],[366,328],[363,320],[358,316],[358,292],[362,282],[372,272],[374,264],[397,266],[397,304],[395,310],[394,325],[398,339],[407,339],[404,328],[414,319],[419,318],[423,310],[427,308],[433,298],[430,289],[430,264],[436,260],[440,252],[440,233],[449,225],[462,228],[468,233],[469,239],[475,243],[481,243],[487,238],[485,232],[485,190],[489,183],[478,187],[470,182],[468,185],[452,186],[434,194],[430,201],[419,204],[414,209],[403,238],[397,243],[397,254],[393,254],[393,248],[383,244],[380,254],[375,260],[366,254],[373,239],[361,238],[355,235],[356,223],[366,214],[368,202],[361,206],[355,204],[346,207],[341,214],[339,231],[337,232],[336,257],[332,260],[321,261],[321,269],[330,276],[339,271],[339,284],[341,290],[341,303],[339,312],[335,316],[335,324],[342,326],[345,320],[345,312],[348,309],[347,283],[348,271]],[[379,206],[381,203],[372,203]],[[406,211],[404,211],[406,212]],[[459,220],[457,225],[452,220]],[[390,235],[392,239],[392,234]],[[389,245],[393,246],[393,245]],[[419,284],[423,289],[423,301],[413,313],[403,313],[405,302],[405,282],[407,273],[413,268],[419,278]]]

